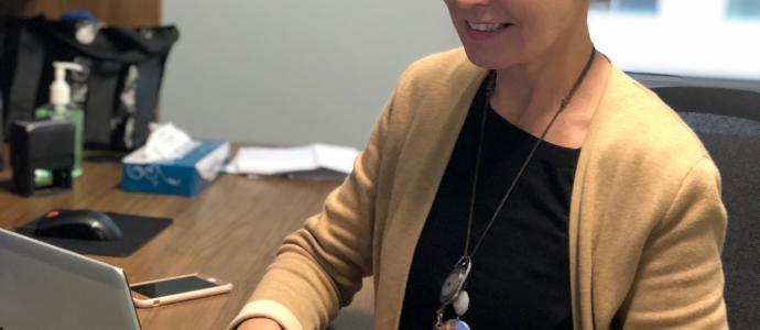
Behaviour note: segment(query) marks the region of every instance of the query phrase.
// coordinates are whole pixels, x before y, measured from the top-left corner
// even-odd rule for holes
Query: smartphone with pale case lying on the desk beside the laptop
[[[195,273],[135,283],[129,287],[134,306],[149,308],[226,294],[232,289],[232,284]]]

